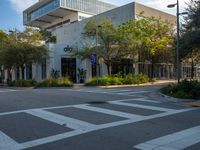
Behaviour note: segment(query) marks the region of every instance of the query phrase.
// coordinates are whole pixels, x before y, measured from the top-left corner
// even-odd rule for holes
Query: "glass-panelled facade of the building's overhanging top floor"
[[[111,10],[116,6],[99,0],[52,0],[30,13],[25,11],[23,14],[24,24],[34,21],[59,7],[95,15]]]

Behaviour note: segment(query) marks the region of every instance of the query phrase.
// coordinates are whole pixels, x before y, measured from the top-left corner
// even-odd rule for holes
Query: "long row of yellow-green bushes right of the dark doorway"
[[[88,86],[96,86],[98,80],[98,85],[109,86],[109,85],[126,85],[126,84],[142,84],[149,82],[149,78],[143,74],[128,74],[122,77],[120,74],[113,76],[105,76],[100,78],[93,78],[91,81],[86,83]]]

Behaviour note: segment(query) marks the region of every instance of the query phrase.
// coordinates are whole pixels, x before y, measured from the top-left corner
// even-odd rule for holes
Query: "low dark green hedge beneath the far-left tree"
[[[15,87],[33,87],[37,84],[34,80],[15,80],[9,81],[8,86],[15,86]]]

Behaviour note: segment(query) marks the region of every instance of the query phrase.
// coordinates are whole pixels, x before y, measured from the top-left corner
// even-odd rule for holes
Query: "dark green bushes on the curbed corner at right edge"
[[[200,82],[184,80],[178,84],[170,84],[161,89],[161,92],[176,98],[200,98]]]

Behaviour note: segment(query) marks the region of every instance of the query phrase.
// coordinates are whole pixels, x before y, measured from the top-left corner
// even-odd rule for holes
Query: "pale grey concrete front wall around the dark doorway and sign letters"
[[[61,58],[62,57],[71,57],[69,53],[64,52],[64,48],[67,45],[74,47],[75,50],[82,50],[82,48],[87,43],[86,40],[82,36],[83,28],[85,23],[89,19],[101,19],[101,18],[109,18],[113,20],[116,25],[120,25],[123,22],[126,22],[129,19],[134,18],[134,9],[133,4],[129,4],[120,8],[116,8],[114,10],[110,10],[108,12],[102,13],[100,15],[91,17],[91,15],[78,13],[78,15],[90,17],[88,19],[84,19],[83,21],[79,21],[73,24],[68,24],[63,27],[57,28],[53,31],[53,34],[57,36],[57,43],[50,44],[49,49],[50,60],[48,63],[48,72],[54,68],[61,72]],[[76,49],[78,48],[78,49]],[[77,59],[77,69],[84,68],[87,70],[87,80],[91,78],[91,63],[90,60],[80,61]],[[101,74],[106,75],[107,69],[105,65],[101,65]],[[49,75],[50,73],[48,73]]]

